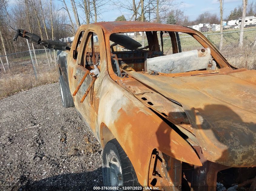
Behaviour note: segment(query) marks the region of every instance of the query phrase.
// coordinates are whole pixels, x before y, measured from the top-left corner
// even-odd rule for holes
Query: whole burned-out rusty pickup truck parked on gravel
[[[256,71],[234,68],[198,31],[81,25],[58,66],[63,106],[104,148],[105,186],[255,190]]]

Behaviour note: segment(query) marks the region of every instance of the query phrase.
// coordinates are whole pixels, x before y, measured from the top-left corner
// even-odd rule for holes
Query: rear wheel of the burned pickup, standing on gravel
[[[60,90],[62,106],[65,108],[74,107],[75,105],[74,105],[73,97],[70,94],[70,91],[62,75],[59,77],[59,90]]]

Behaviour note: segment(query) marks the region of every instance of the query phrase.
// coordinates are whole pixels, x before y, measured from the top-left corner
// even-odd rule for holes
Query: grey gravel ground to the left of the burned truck
[[[62,107],[58,83],[0,100],[0,116],[0,190],[102,186],[102,148],[76,109]]]

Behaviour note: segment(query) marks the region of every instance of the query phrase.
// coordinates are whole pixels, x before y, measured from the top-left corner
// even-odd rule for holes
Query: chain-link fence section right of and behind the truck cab
[[[221,52],[228,62],[237,68],[256,69],[256,29],[244,30],[243,46],[239,47],[240,31],[224,33],[204,33],[204,36]],[[221,34],[223,35],[221,48]],[[186,33],[179,33],[182,52],[202,48],[193,37]],[[138,41],[142,46],[147,46],[148,41]],[[159,45],[161,39],[159,38]],[[172,44],[169,34],[163,36],[164,54],[172,54]]]

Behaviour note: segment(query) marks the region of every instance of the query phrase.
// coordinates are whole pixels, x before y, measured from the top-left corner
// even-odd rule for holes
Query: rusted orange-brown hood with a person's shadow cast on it
[[[206,160],[256,166],[256,70],[175,78],[128,74],[181,103]]]

